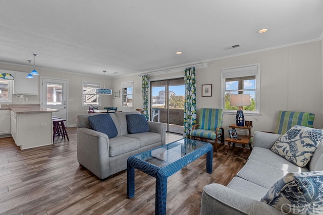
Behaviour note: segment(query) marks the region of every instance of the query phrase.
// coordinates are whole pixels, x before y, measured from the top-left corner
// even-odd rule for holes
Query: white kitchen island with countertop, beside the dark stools
[[[52,112],[38,106],[11,106],[10,132],[20,149],[52,145]]]

